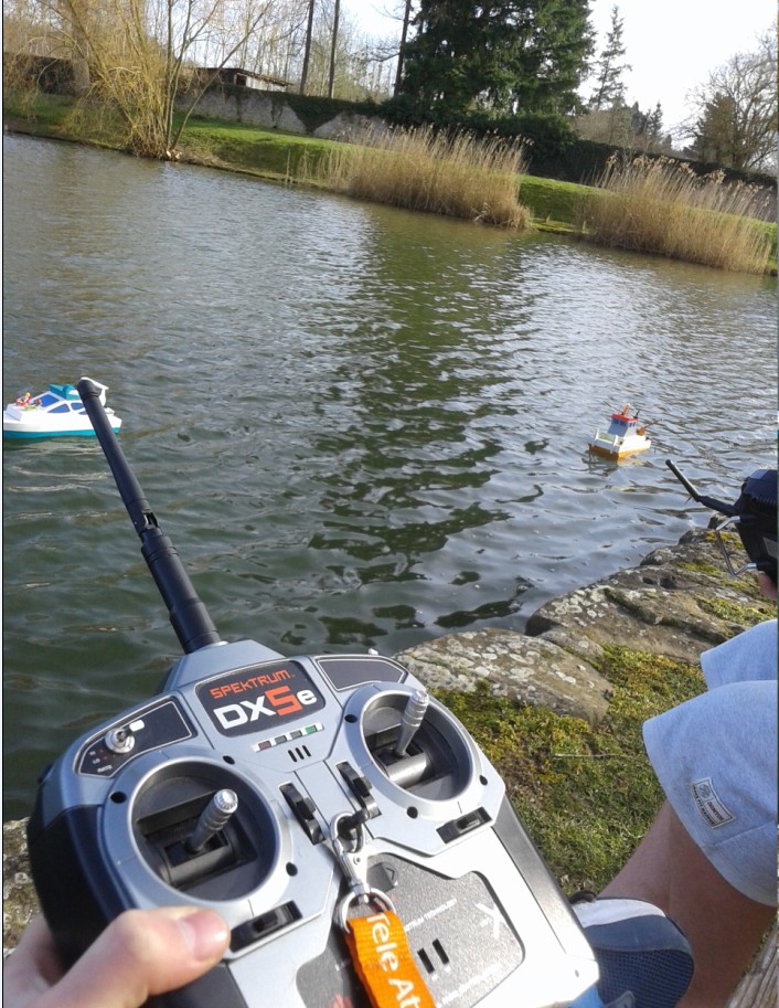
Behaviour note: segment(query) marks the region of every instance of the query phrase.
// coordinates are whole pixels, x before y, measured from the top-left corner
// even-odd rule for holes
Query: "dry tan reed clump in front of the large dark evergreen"
[[[521,172],[521,147],[497,137],[369,129],[322,159],[319,181],[363,200],[522,229]]]

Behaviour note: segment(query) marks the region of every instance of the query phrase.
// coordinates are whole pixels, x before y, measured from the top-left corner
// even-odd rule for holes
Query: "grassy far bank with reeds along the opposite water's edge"
[[[68,98],[47,95],[22,98],[6,93],[4,114],[11,128],[109,148],[120,147],[118,124],[96,109],[75,114],[74,103]],[[466,151],[466,169],[462,148],[468,144],[461,144],[445,165],[444,155],[448,157],[449,153],[437,148],[436,142],[429,137],[423,138],[423,147],[429,148],[429,157],[426,155],[423,159],[418,151],[382,151],[364,145],[344,145],[241,123],[192,117],[182,136],[181,158],[286,184],[319,187],[360,199],[452,213],[487,223],[524,227],[530,217],[530,226],[537,230],[721,268],[777,272],[776,224],[738,216],[717,206],[693,205],[687,212],[662,193],[655,194],[651,203],[639,194],[639,209],[636,209],[636,203],[629,203],[623,194],[616,197],[607,189],[524,174],[515,151],[494,146],[490,149],[489,145],[485,150],[471,145]],[[402,138],[401,147],[404,144]],[[416,177],[414,190],[406,184],[412,174]],[[399,185],[399,182],[404,184]],[[447,192],[448,184],[451,192]],[[398,192],[398,189],[406,192]],[[456,191],[459,192],[457,199]],[[607,232],[599,221],[612,214],[616,204],[622,208],[621,219]],[[641,206],[650,206],[650,212],[644,213]],[[734,232],[737,232],[736,238]],[[684,236],[684,242],[680,235]],[[691,236],[697,237],[696,245],[691,245]],[[726,248],[735,244],[746,247],[746,264],[744,258],[735,259]]]

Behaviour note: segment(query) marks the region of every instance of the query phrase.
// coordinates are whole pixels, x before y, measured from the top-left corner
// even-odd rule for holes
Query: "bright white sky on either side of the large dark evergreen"
[[[776,0],[590,0],[599,53],[611,28],[611,9],[622,18],[627,102],[650,112],[660,103],[672,131],[687,118],[687,94],[739,52],[755,52],[757,38],[776,30]],[[382,12],[396,0],[342,0],[369,34],[398,35],[398,21]],[[585,96],[589,89],[585,92]]]

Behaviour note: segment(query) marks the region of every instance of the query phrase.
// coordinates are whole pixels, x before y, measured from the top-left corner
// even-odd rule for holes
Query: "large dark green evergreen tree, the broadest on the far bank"
[[[591,51],[588,0],[419,0],[401,92],[424,110],[565,114]]]

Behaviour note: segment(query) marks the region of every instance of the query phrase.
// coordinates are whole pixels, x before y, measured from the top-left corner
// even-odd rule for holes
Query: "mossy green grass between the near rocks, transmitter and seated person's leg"
[[[505,781],[529,834],[568,893],[601,889],[662,804],[643,749],[643,722],[704,689],[696,667],[626,648],[607,647],[602,671],[615,689],[598,729],[543,708],[513,707],[487,688],[476,694],[436,692]]]

